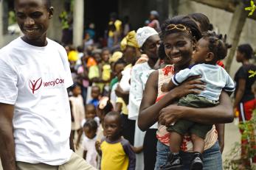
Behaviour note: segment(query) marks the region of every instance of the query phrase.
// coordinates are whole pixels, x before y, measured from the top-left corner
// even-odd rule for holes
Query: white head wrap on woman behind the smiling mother
[[[150,26],[139,28],[136,32],[136,40],[139,44],[139,47],[142,47],[145,41],[152,35],[158,35],[156,29],[153,29]]]

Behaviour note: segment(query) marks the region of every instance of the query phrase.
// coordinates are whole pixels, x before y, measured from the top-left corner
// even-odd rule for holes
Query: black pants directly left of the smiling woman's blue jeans
[[[144,170],[153,170],[156,163],[156,129],[147,130],[143,143]]]

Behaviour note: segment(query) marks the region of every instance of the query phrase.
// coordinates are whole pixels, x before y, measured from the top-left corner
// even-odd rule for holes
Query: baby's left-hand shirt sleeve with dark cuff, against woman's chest
[[[186,80],[188,77],[199,75],[199,74],[196,74],[196,72],[194,71],[195,69],[193,69],[193,68],[191,68],[191,69],[186,68],[186,69],[181,70],[178,73],[174,74],[174,76],[172,77],[173,84],[180,85],[181,82],[184,82],[184,80]]]

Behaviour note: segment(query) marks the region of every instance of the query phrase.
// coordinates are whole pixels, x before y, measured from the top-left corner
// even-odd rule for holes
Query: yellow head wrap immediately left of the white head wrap
[[[134,46],[135,48],[139,49],[139,44],[137,43],[135,35],[136,35],[136,32],[131,31],[131,32],[128,32],[125,38],[122,39],[120,43],[120,47],[122,51],[126,49],[126,46]]]

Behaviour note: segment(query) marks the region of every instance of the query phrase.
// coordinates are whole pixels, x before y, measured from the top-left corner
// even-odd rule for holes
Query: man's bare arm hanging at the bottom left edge
[[[14,105],[0,103],[0,157],[4,170],[15,170],[15,144],[13,138]]]

